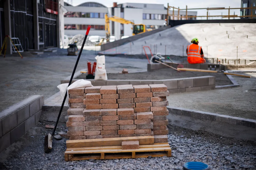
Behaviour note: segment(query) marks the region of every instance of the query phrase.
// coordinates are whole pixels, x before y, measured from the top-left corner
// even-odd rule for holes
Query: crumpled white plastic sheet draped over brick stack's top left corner
[[[72,83],[69,87],[68,87],[68,83],[60,84],[57,87],[60,90],[61,97],[64,98],[66,91],[69,89],[75,89],[80,87],[91,87],[91,86],[92,86],[91,81],[80,79]],[[65,103],[70,107],[70,104],[68,103],[68,99],[69,99],[69,95],[67,95]]]

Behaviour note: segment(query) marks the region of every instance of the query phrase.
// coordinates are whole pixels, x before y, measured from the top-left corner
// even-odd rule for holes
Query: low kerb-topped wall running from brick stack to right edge
[[[256,140],[256,120],[167,106],[169,124],[226,137]]]

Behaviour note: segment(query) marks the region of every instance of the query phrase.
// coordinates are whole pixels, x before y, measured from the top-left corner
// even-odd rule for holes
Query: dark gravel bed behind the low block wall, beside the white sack
[[[162,79],[176,79],[176,78],[187,78],[187,77],[198,77],[211,75],[216,77],[216,85],[229,85],[232,82],[223,73],[206,73],[206,72],[192,72],[184,71],[177,72],[171,68],[162,68],[160,70],[155,70],[151,72],[140,72],[140,73],[129,73],[129,74],[119,74],[119,73],[108,73],[109,80],[162,80]],[[86,79],[85,75],[82,74],[77,77],[78,79]]]

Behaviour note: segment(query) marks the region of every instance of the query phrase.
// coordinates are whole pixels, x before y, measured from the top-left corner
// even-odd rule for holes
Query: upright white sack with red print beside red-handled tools
[[[107,80],[107,72],[105,69],[105,55],[96,56],[97,60],[96,69],[95,69],[95,77],[94,80]]]

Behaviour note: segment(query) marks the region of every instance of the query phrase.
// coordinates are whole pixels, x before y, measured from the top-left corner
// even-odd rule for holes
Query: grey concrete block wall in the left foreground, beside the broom
[[[44,96],[30,96],[0,112],[0,152],[23,136],[39,121]]]

